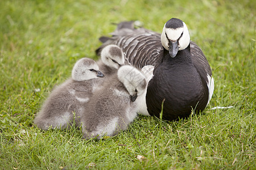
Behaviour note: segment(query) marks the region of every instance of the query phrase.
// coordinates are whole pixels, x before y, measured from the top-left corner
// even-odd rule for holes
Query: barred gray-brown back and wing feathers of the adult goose
[[[104,44],[96,50],[97,55],[100,55],[106,45],[114,44],[122,48],[126,54],[126,61],[137,69],[142,69],[146,65],[157,67],[163,62],[164,56],[160,33],[144,28],[134,29],[131,24],[133,22],[121,22],[112,33],[112,37],[100,37],[100,41]],[[199,73],[211,76],[210,65],[201,48],[193,41],[191,41],[190,47],[192,63],[196,69],[199,70]]]

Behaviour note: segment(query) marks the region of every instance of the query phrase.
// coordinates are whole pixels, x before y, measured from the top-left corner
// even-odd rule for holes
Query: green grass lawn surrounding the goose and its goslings
[[[0,169],[256,169],[255,1],[0,1]],[[127,131],[84,141],[80,129],[33,124],[77,59],[97,59],[112,22],[162,31],[182,19],[213,69],[205,111],[176,122],[139,116]],[[36,92],[35,89],[40,89]],[[216,106],[230,109],[210,110]],[[146,159],[139,162],[137,155]]]

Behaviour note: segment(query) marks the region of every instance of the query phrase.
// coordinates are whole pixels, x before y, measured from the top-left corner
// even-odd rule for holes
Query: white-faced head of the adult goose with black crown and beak
[[[168,50],[170,56],[174,58],[178,50],[187,48],[190,43],[187,25],[177,18],[168,20],[163,27],[161,42],[164,49]]]

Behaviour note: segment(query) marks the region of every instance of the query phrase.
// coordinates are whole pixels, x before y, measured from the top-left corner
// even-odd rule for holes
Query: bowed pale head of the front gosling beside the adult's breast
[[[131,101],[135,101],[137,96],[146,90],[147,82],[145,76],[133,66],[124,65],[117,71],[118,80],[123,83],[131,96]]]

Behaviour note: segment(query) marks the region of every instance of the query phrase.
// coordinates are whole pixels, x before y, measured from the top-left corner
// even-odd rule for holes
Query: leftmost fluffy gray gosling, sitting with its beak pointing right
[[[72,121],[78,121],[84,103],[92,96],[95,80],[103,76],[93,59],[79,59],[73,67],[72,78],[53,89],[36,115],[34,122],[38,128],[65,129]]]

